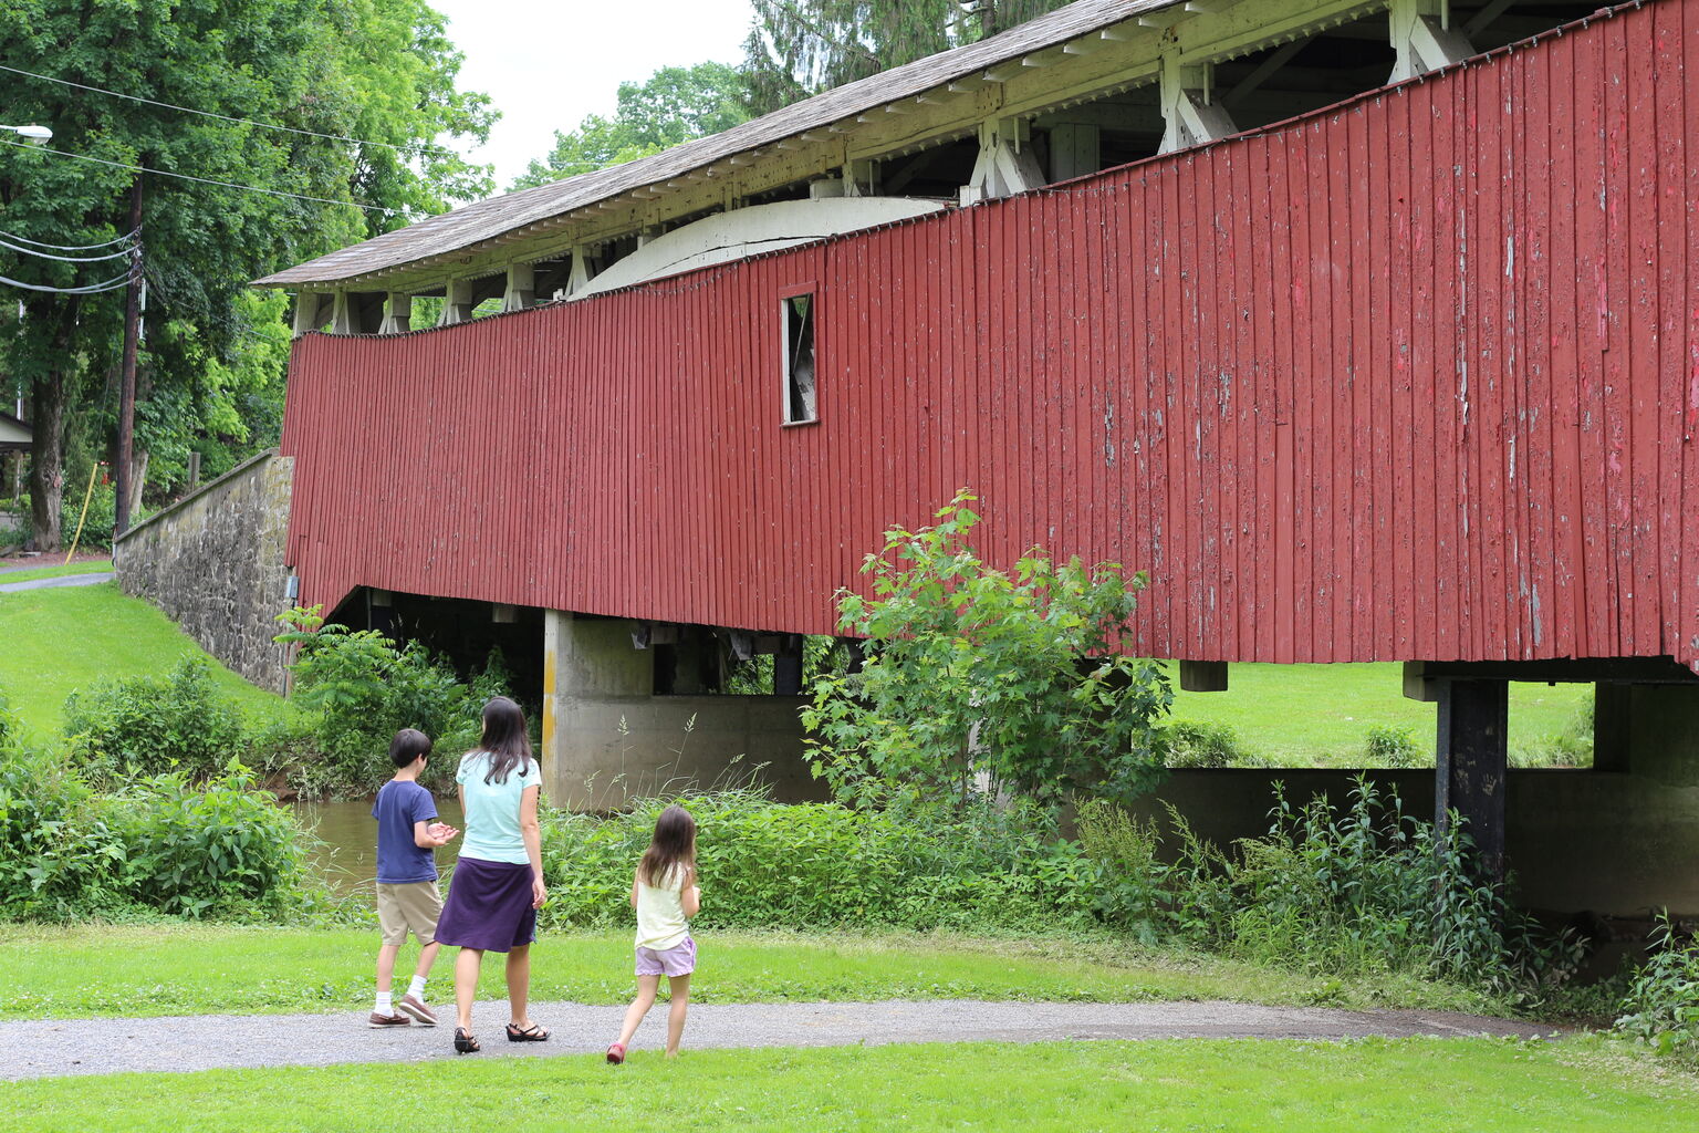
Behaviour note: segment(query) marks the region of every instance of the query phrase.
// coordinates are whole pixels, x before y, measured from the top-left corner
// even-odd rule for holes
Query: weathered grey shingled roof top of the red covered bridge
[[[1184,0],[1077,0],[1006,32],[882,71],[664,153],[547,185],[489,197],[255,280],[262,287],[330,285],[496,240],[539,221],[678,178],[724,158],[912,99],[1009,59],[1053,48]]]

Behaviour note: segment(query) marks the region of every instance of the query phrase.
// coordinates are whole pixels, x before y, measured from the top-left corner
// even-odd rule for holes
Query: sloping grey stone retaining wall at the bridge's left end
[[[284,691],[277,615],[294,605],[284,535],[294,457],[263,452],[116,542],[124,593],[146,598],[200,647],[262,688]]]

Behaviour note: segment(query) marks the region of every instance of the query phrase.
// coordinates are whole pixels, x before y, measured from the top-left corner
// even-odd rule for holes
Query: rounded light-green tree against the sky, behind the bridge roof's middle
[[[642,83],[620,83],[613,117],[588,114],[574,131],[556,131],[554,149],[513,182],[530,189],[647,158],[731,129],[749,117],[742,76],[725,63],[664,66]]]

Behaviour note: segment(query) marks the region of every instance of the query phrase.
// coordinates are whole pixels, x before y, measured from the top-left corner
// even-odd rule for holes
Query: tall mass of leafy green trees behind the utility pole
[[[241,299],[246,280],[488,189],[486,170],[420,144],[440,134],[484,138],[493,117],[483,95],[455,92],[460,56],[423,0],[12,0],[0,7],[0,63],[229,119],[399,146],[280,132],[7,75],[5,119],[49,126],[51,148],[76,156],[0,146],[0,231],[54,245],[119,238],[131,228],[138,177],[122,166],[161,172],[143,175],[150,338],[139,369],[151,391],[138,406],[143,445],[182,450],[204,431],[197,414],[206,413],[221,435],[240,433],[224,413],[233,411],[233,374],[246,372],[250,389],[277,386],[277,352],[255,358],[251,347],[263,336],[257,319],[277,319],[280,304]],[[0,273],[48,287],[122,270],[122,260],[0,260]],[[68,442],[104,437],[114,420],[124,294],[25,290],[20,299],[24,318],[0,340],[0,355],[29,389],[34,537],[54,547]]]

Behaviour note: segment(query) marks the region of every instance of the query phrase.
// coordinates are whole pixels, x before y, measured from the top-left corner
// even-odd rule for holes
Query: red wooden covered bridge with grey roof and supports
[[[1495,853],[1507,679],[1597,681],[1600,769],[1692,795],[1696,122],[1699,0],[1081,0],[262,280],[287,561],[544,644],[583,803],[693,713],[793,768],[795,702],[705,695],[720,657],[797,691],[963,484],[994,561],[1147,569],[1191,685],[1408,662]]]

